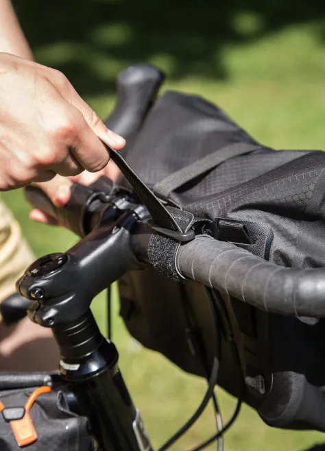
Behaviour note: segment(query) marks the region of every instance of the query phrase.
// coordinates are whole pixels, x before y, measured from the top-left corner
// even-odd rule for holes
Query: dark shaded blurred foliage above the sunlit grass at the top
[[[14,5],[36,56],[62,70],[83,95],[114,92],[116,72],[139,61],[160,62],[174,80],[189,74],[225,80],[231,75],[228,47],[254,45],[292,25],[317,21],[313,34],[324,40],[325,3],[317,0],[14,0]]]

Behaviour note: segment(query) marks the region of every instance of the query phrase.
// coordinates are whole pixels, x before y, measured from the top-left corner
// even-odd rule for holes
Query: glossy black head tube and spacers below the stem
[[[60,347],[60,372],[69,382],[103,451],[152,451],[118,366],[89,310],[80,320],[53,328]]]

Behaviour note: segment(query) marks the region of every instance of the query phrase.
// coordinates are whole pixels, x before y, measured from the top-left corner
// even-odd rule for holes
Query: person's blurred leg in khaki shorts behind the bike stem
[[[0,198],[0,303],[16,291],[17,279],[35,256],[19,223]],[[0,316],[0,371],[57,371],[60,353],[51,329],[29,318],[5,325]]]

